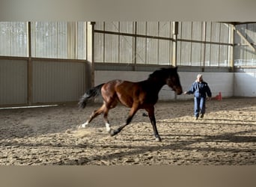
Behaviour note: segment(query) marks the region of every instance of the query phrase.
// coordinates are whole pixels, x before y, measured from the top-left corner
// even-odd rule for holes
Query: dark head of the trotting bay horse
[[[177,67],[168,68],[168,78],[166,79],[166,85],[172,88],[173,91],[180,95],[183,93],[182,87],[180,85],[180,77],[177,73]]]

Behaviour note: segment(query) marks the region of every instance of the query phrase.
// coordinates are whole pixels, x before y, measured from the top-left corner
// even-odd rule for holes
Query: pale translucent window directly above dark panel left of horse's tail
[[[85,59],[85,22],[31,22],[31,55]]]

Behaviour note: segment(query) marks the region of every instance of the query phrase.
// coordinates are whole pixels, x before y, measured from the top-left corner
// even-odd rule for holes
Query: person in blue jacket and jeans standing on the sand
[[[212,96],[210,88],[207,82],[203,81],[203,75],[198,74],[197,79],[195,82],[192,83],[191,88],[189,91],[185,91],[184,94],[193,94],[194,93],[194,100],[195,100],[195,107],[194,107],[194,114],[195,120],[198,120],[199,114],[201,118],[204,117],[205,114],[205,102],[207,96],[209,99]]]

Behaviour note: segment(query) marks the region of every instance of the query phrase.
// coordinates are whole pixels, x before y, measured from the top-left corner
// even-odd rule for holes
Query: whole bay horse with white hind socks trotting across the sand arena
[[[85,108],[86,103],[94,97],[103,97],[103,105],[95,110],[88,120],[80,127],[85,128],[94,117],[103,113],[103,119],[106,124],[106,130],[110,135],[117,135],[127,126],[132,117],[139,109],[147,111],[150,123],[153,126],[153,133],[156,141],[161,141],[159,133],[156,129],[156,118],[154,114],[154,105],[158,100],[158,93],[163,85],[168,85],[173,91],[180,95],[183,93],[180,85],[180,78],[177,73],[177,67],[162,68],[151,73],[148,79],[141,82],[129,82],[124,80],[112,80],[88,90],[79,100],[79,106]],[[111,129],[108,120],[109,110],[121,104],[131,108],[126,123],[118,129]]]

